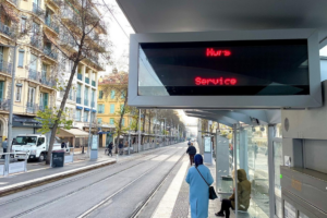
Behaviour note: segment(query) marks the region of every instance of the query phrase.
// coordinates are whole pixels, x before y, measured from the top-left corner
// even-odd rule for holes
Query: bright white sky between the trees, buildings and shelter
[[[106,12],[105,21],[109,24],[108,27],[108,37],[109,40],[113,44],[111,59],[113,61],[113,65],[108,65],[106,72],[101,72],[100,75],[106,75],[112,72],[113,68],[117,68],[119,71],[124,70],[128,71],[129,66],[129,48],[130,48],[130,34],[134,34],[130,22],[120,10],[116,0],[106,0],[108,7],[112,8],[113,13]],[[194,132],[196,134],[197,128],[197,119],[187,117],[183,110],[178,110],[180,118],[186,125],[190,132]],[[195,126],[194,126],[195,125]]]

